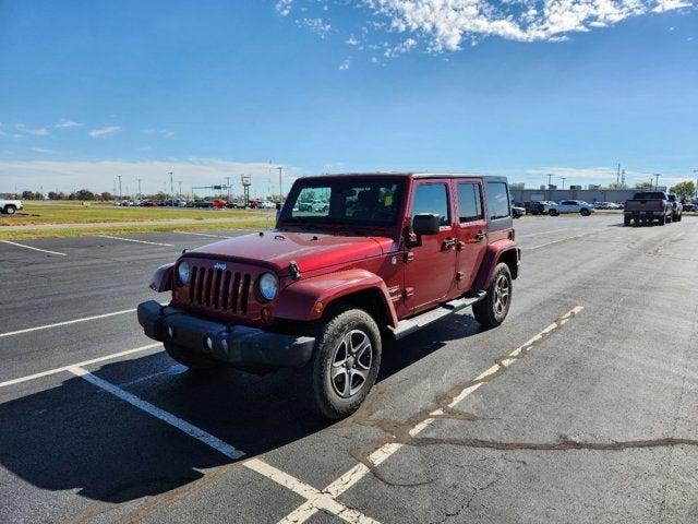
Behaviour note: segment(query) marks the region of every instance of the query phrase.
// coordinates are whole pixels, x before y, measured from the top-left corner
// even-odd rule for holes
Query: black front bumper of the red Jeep
[[[299,368],[310,360],[315,345],[312,336],[225,324],[155,300],[139,305],[139,323],[155,341],[170,342],[240,369]]]

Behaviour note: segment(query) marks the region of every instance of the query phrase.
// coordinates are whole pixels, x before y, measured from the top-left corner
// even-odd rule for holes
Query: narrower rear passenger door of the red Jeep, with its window
[[[458,204],[456,282],[461,291],[472,287],[488,247],[488,224],[484,218],[482,189],[482,182],[478,179],[458,180],[456,183]]]

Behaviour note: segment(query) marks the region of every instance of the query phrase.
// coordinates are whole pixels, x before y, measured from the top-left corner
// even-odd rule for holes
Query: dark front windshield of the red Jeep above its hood
[[[368,178],[301,180],[284,206],[281,223],[394,226],[402,202],[404,181]]]

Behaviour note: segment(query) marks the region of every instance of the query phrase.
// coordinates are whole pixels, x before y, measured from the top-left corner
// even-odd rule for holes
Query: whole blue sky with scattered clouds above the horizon
[[[424,4],[0,0],[0,191],[174,170],[264,193],[275,166],[696,177],[691,1]]]

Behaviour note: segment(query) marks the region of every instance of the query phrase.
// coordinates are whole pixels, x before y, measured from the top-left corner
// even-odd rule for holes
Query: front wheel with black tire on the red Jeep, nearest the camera
[[[330,420],[351,415],[375,383],[381,354],[381,331],[369,313],[350,307],[327,311],[313,357],[296,372],[302,407]]]

